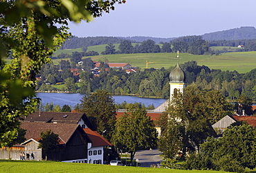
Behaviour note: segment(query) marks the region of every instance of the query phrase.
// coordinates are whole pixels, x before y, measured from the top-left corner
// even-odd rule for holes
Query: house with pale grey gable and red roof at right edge
[[[217,123],[212,125],[214,130],[219,130],[222,134],[226,128],[228,128],[232,123],[246,121],[249,125],[256,127],[256,116],[238,116],[238,115],[226,115]]]

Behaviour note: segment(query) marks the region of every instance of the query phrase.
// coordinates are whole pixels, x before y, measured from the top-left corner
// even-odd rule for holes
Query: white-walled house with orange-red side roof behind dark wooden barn
[[[95,164],[103,164],[104,163],[104,147],[111,145],[109,141],[104,139],[98,132],[94,131],[95,129],[89,122],[89,119],[84,113],[80,112],[35,112],[33,114],[28,114],[24,118],[24,122],[26,123],[36,123],[36,124],[66,124],[68,125],[78,125],[83,128],[84,134],[89,138],[91,143],[88,145],[88,152],[86,158],[87,159],[73,159],[73,160],[65,160],[63,162],[81,162],[81,163],[95,163]],[[65,125],[64,125],[65,126]],[[63,130],[63,133],[66,133],[66,130]],[[60,134],[59,134],[60,135]],[[30,139],[30,136],[26,136],[26,139]],[[30,139],[23,143],[33,143],[36,145],[37,140]],[[38,145],[38,144],[37,144]],[[35,149],[35,148],[34,148]]]

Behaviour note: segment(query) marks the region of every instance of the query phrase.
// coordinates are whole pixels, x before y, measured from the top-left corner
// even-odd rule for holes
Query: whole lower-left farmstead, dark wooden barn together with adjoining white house
[[[26,141],[10,148],[10,158],[19,159],[19,154],[33,153],[35,160],[45,158],[38,149],[40,133],[51,130],[59,135],[58,148],[48,155],[48,160],[75,163],[104,163],[104,147],[111,143],[96,132],[84,113],[35,112],[21,121],[26,130]],[[8,159],[6,147],[0,149],[0,159]]]

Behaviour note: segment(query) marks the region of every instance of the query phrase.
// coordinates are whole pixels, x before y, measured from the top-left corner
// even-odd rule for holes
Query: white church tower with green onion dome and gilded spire
[[[185,72],[181,70],[179,64],[179,51],[177,52],[177,59],[177,65],[170,73],[170,101],[172,100],[172,94],[174,94],[176,90],[180,90],[180,92],[183,92],[185,88]]]

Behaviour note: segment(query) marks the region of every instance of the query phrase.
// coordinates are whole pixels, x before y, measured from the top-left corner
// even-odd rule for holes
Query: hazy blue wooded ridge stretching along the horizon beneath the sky
[[[256,29],[254,27],[241,27],[218,32],[211,32],[197,36],[181,36],[176,38],[158,38],[158,37],[71,37],[66,39],[61,49],[84,48],[91,45],[102,45],[109,43],[120,43],[124,40],[129,40],[131,43],[142,43],[143,41],[152,40],[155,43],[172,43],[173,41],[185,41],[191,43],[203,39],[208,41],[211,46],[232,46],[245,45],[246,42],[251,42],[256,39]],[[248,45],[248,43],[247,43]]]

